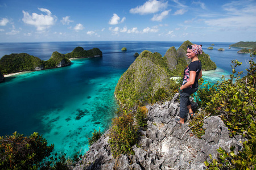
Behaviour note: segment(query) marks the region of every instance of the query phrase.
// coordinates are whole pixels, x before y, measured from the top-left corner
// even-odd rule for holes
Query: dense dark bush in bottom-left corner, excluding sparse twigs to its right
[[[54,148],[47,146],[42,135],[34,133],[29,137],[14,133],[0,137],[0,169],[38,169],[40,162],[49,156]]]

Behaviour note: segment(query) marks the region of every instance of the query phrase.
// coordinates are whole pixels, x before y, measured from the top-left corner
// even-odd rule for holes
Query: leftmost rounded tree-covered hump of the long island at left
[[[0,59],[0,71],[2,74],[16,73],[19,71],[35,70],[43,65],[43,61],[27,53],[5,55]]]

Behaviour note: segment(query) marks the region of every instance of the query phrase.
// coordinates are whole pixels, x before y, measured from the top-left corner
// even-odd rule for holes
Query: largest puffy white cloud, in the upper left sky
[[[26,24],[34,25],[38,31],[44,31],[46,28],[55,24],[56,16],[52,16],[51,11],[46,8],[38,8],[42,12],[46,12],[47,15],[32,13],[30,15],[26,11],[23,12],[23,22]]]

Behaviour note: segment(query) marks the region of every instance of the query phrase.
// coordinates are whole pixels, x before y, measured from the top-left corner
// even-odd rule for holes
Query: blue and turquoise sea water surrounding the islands
[[[103,57],[73,59],[72,65],[58,69],[30,71],[6,78],[0,83],[0,136],[15,131],[31,135],[43,134],[55,151],[73,155],[85,153],[88,137],[94,129],[108,129],[117,102],[114,88],[120,76],[134,62],[135,52],[166,51],[183,42],[166,41],[93,41],[93,42],[16,42],[0,43],[0,57],[11,53],[28,53],[47,60],[55,51],[66,54],[77,46],[88,50],[99,48]],[[239,48],[229,49],[232,42],[193,42],[202,44],[205,53],[217,69],[204,71],[204,79],[216,82],[221,75],[231,73],[231,60],[243,62],[238,71],[245,71],[249,54],[238,54]],[[213,50],[207,48],[211,44]],[[121,52],[122,47],[127,52]],[[217,49],[224,48],[220,52]]]

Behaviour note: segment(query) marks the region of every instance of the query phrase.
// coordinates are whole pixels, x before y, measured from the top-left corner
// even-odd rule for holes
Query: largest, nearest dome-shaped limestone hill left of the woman
[[[142,103],[161,87],[168,87],[170,74],[159,53],[144,50],[118,80],[115,96],[120,103]]]

